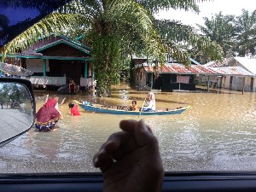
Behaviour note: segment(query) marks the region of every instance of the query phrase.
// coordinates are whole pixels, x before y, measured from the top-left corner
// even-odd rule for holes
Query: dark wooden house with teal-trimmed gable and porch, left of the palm
[[[19,53],[7,55],[5,62],[32,71],[32,84],[61,86],[73,79],[81,87],[93,83],[91,48],[64,36],[39,38],[36,44]]]

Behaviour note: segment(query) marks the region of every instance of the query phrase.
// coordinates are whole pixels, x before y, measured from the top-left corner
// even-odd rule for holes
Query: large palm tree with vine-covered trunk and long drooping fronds
[[[14,52],[17,47],[25,49],[42,35],[68,32],[73,37],[82,32],[84,43],[93,49],[92,66],[99,96],[109,95],[127,55],[146,55],[150,61],[163,63],[168,52],[178,61],[189,64],[188,56],[177,49],[178,43],[185,42],[211,49],[212,57],[221,58],[218,45],[209,39],[199,38],[191,29],[183,30],[176,22],[155,20],[153,14],[163,8],[197,9],[194,0],[74,0],[9,42],[3,55]]]

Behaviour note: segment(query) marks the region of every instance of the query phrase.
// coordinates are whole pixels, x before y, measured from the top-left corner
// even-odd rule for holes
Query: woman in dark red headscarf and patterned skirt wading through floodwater
[[[35,127],[38,131],[53,131],[55,124],[63,119],[61,111],[56,109],[58,100],[58,96],[48,99],[36,113]]]

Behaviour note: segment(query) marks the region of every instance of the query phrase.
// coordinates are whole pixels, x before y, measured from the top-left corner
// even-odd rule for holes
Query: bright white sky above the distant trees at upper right
[[[195,23],[204,24],[203,17],[211,18],[219,11],[222,11],[223,15],[241,15],[241,9],[246,9],[250,13],[256,9],[255,0],[214,0],[197,4],[201,11],[199,15],[183,10],[169,10],[160,11],[155,17],[157,19],[180,20],[184,25],[196,26]]]

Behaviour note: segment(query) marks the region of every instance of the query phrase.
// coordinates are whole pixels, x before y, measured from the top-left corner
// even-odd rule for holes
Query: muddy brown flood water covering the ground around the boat
[[[45,93],[36,92],[37,110]],[[67,96],[59,106],[64,119],[56,131],[32,128],[0,148],[0,172],[99,172],[92,166],[98,148],[119,131],[121,119],[141,118],[159,139],[165,171],[256,171],[255,93],[156,92],[157,108],[192,107],[183,114],[164,116],[87,113],[82,108],[81,116],[71,116],[67,106],[79,98],[108,105],[127,105],[136,99],[141,106],[146,96],[147,92],[128,86],[115,87],[111,98]]]

